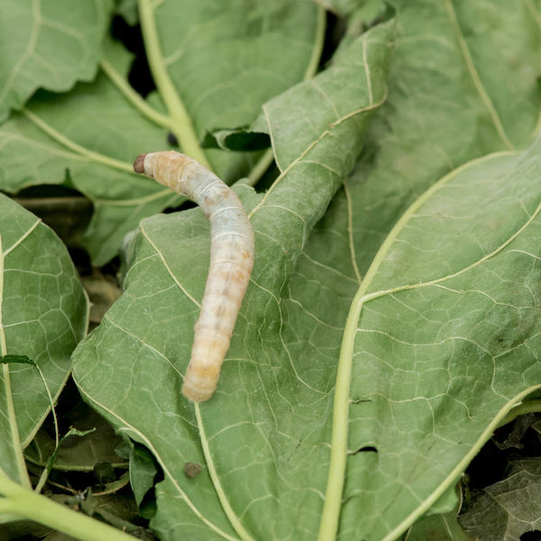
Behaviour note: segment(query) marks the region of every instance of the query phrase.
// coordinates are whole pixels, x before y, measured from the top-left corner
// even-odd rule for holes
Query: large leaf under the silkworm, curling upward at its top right
[[[160,462],[152,524],[163,539],[316,536],[335,373],[325,344],[338,342],[344,313],[294,344],[288,282],[386,96],[392,29],[371,29],[330,69],[265,106],[284,171],[264,197],[238,188],[252,208],[256,263],[215,398],[194,411],[179,391],[208,265],[199,210],[142,221],[123,297],[74,354],[85,398]],[[190,479],[188,462],[205,468]]]

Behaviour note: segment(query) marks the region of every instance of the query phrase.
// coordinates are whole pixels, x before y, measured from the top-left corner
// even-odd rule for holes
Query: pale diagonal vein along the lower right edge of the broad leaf
[[[476,444],[473,445],[470,451],[464,455],[463,459],[457,463],[456,466],[454,466],[454,469],[447,475],[447,477],[445,477],[445,480],[438,485],[436,490],[433,491],[432,494],[426,498],[426,500],[423,500],[422,504],[419,505],[413,513],[408,515],[407,518],[404,518],[404,520],[402,520],[397,527],[394,527],[389,534],[387,534],[387,536],[383,537],[381,541],[395,541],[417,520],[417,518],[422,517],[426,511],[430,509],[444,494],[444,492],[458,480],[460,474],[466,469],[468,464],[472,462],[473,457],[478,454],[481,451],[481,447],[487,441],[489,441],[494,430],[500,425],[500,421],[508,415],[509,411],[514,408],[520,400],[524,399],[528,394],[537,389],[541,389],[541,384],[528,387],[516,397],[509,400],[509,402],[500,409],[498,415],[494,417],[491,423],[482,431]]]

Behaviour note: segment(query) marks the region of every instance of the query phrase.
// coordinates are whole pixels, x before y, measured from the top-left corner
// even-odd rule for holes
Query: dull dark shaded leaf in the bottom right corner
[[[523,534],[541,528],[539,491],[539,459],[513,461],[503,481],[472,498],[470,509],[459,517],[460,524],[479,541],[520,539]]]

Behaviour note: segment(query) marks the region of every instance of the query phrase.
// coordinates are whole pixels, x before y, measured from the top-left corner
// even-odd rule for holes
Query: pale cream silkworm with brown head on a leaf
[[[213,395],[253,266],[252,225],[234,191],[196,160],[175,151],[141,154],[133,170],[189,197],[210,222],[210,267],[182,393]]]

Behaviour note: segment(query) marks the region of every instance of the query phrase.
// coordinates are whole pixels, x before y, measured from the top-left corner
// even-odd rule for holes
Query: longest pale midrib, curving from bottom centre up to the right
[[[502,151],[482,156],[477,160],[464,163],[459,168],[451,171],[445,177],[438,180],[428,188],[414,203],[408,207],[408,210],[400,216],[399,221],[390,230],[390,233],[381,244],[380,250],[376,253],[371,266],[368,269],[361,287],[357,290],[352,301],[352,307],[346,319],[344,327],[344,337],[340,348],[338,360],[338,369],[336,372],[335,400],[333,409],[333,434],[331,439],[331,461],[329,464],[329,474],[327,477],[326,500],[321,518],[318,541],[331,541],[335,539],[340,510],[342,507],[342,493],[344,491],[344,473],[347,454],[347,436],[348,436],[348,418],[349,418],[349,390],[351,383],[351,371],[353,366],[353,345],[357,331],[359,317],[361,316],[362,305],[365,300],[366,291],[371,285],[376,272],[380,269],[390,246],[399,233],[408,223],[408,220],[414,215],[417,209],[422,206],[426,200],[431,197],[438,189],[473,165],[477,165],[486,160],[491,160],[499,156],[516,155],[518,152]]]

